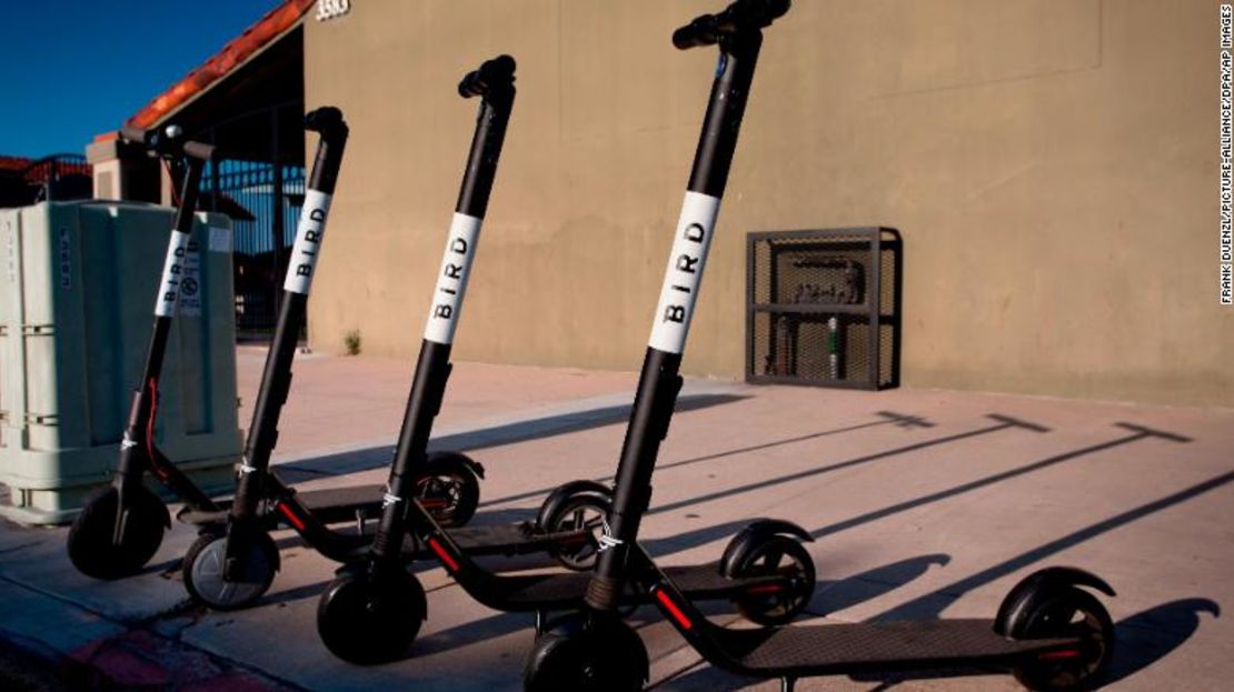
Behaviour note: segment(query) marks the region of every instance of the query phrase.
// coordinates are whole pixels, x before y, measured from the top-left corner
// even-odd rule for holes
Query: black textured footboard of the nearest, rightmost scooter
[[[843,623],[722,629],[717,639],[742,666],[775,676],[972,667],[1075,643],[1007,639],[993,625],[991,619]]]

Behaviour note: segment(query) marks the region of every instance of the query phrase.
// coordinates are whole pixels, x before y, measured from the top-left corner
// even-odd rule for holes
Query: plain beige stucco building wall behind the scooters
[[[518,100],[455,356],[637,369],[717,1],[364,0],[308,21],[306,105],[352,123],[317,348],[418,348],[476,104]],[[769,30],[685,369],[743,371],[744,234],[906,239],[903,381],[1234,405],[1217,302],[1217,2],[798,0]]]

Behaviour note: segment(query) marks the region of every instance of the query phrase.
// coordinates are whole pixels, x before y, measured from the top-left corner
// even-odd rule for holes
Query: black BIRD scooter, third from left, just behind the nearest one
[[[442,527],[412,496],[407,482],[424,463],[424,449],[450,370],[454,327],[489,201],[501,133],[515,96],[511,84],[490,83],[486,90],[478,91],[468,89],[464,81],[460,91],[464,96],[480,94],[484,101],[416,364],[416,386],[390,469],[387,505],[368,554],[339,570],[317,608],[322,641],[334,655],[354,664],[380,664],[405,656],[427,617],[424,590],[405,567],[399,550],[407,537],[427,545],[469,596],[497,611],[536,613],[537,627],[550,611],[581,606],[590,581],[589,574],[579,571],[496,574],[479,566],[460,532]],[[564,498],[560,512],[575,517],[578,502]],[[595,521],[584,525],[601,530],[606,513],[607,503],[600,512],[589,511],[587,517]],[[738,612],[759,624],[784,623],[806,607],[814,590],[814,565],[801,540],[810,540],[801,527],[758,521],[729,542],[719,561],[670,571],[697,598],[732,601]],[[601,542],[597,548],[602,545]],[[591,562],[595,554],[596,550],[587,554]],[[627,607],[637,606],[645,601],[645,595],[628,592],[621,601]]]

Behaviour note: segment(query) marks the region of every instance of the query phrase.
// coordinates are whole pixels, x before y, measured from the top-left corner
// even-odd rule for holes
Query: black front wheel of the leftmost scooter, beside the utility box
[[[158,553],[170,519],[167,507],[146,486],[125,491],[125,517],[120,542],[112,542],[120,491],[110,486],[91,497],[69,529],[69,560],[79,572],[114,580],[132,576]]]

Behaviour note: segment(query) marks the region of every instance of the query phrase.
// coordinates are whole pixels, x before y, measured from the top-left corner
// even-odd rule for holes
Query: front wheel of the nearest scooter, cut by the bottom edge
[[[550,623],[523,661],[524,692],[637,692],[647,648],[615,617],[571,614]]]

